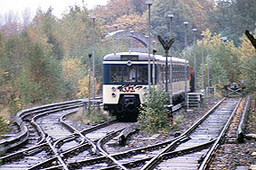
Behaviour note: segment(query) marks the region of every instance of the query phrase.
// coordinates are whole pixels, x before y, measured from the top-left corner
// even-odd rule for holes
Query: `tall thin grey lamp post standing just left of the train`
[[[93,32],[92,32],[92,105],[94,105],[94,97],[95,97],[95,19],[96,16],[90,17],[93,21]]]

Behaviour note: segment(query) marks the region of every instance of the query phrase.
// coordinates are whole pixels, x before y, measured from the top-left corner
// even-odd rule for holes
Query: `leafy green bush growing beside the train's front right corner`
[[[152,89],[149,95],[145,95],[145,100],[146,103],[140,107],[138,115],[140,130],[147,130],[149,134],[158,130],[166,133],[169,128],[169,112],[164,105],[169,101],[168,94],[162,88]]]

